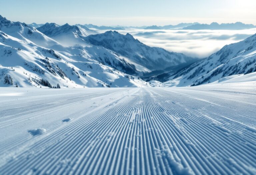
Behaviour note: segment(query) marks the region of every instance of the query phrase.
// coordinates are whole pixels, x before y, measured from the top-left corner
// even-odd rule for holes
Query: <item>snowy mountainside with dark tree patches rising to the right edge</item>
[[[208,58],[181,70],[164,86],[195,86],[231,79],[256,80],[256,34],[238,43],[224,46]],[[252,73],[252,74],[250,74]],[[250,74],[250,75],[247,75]]]

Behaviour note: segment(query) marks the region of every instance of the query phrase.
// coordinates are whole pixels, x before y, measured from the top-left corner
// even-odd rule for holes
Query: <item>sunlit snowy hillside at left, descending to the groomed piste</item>
[[[65,51],[46,49],[1,32],[0,86],[149,86],[138,77],[103,65],[90,56],[82,56],[82,51],[87,53],[82,49],[82,46],[66,48]]]

